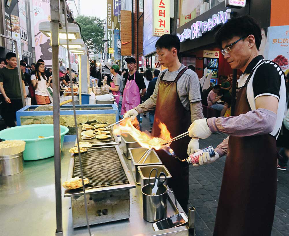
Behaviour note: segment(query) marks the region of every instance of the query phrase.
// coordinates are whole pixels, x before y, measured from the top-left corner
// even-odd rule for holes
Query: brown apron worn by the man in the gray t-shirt
[[[174,81],[163,80],[162,74],[159,82],[158,97],[155,107],[155,122],[153,123],[152,135],[160,136],[159,122],[164,123],[171,137],[176,137],[188,131],[191,124],[190,111],[186,110],[181,103],[177,93],[177,81],[188,68],[179,72]],[[171,143],[171,148],[176,156],[181,159],[188,157],[187,149],[190,138],[186,137]],[[170,156],[164,150],[156,151],[162,163],[171,173],[172,178],[168,179],[168,186],[173,189],[175,196],[184,211],[188,211],[189,199],[189,168],[185,162],[180,162],[175,157]]]

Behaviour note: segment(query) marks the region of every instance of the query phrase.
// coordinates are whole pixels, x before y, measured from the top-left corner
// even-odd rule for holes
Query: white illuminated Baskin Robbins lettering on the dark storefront
[[[230,19],[231,9],[227,9],[225,12],[219,11],[218,14],[214,14],[208,21],[197,21],[193,23],[190,29],[184,29],[182,34],[177,34],[181,43],[187,39],[195,39],[202,37],[202,34],[208,31],[212,31],[216,26],[224,24]]]

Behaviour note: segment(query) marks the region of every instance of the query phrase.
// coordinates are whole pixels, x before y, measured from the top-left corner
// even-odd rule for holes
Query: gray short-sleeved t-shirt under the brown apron
[[[153,91],[153,94],[158,95],[159,82],[163,73],[163,80],[174,81],[179,72],[185,67],[186,66],[184,64],[181,64],[181,67],[177,71],[170,72],[167,69],[163,70],[155,84],[155,90]],[[190,103],[201,101],[202,98],[199,85],[199,77],[197,73],[191,69],[186,70],[177,82],[177,92],[181,103],[183,104],[184,108],[186,108],[186,110],[190,110]]]

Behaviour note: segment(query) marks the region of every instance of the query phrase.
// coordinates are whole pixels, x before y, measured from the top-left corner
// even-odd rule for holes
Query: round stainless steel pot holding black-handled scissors
[[[143,217],[148,222],[156,222],[166,217],[168,189],[166,185],[161,185],[154,196],[151,191],[150,185],[142,187]]]

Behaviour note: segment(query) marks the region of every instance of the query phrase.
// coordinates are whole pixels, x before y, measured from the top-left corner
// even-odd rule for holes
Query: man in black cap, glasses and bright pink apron
[[[121,107],[121,115],[135,108],[140,104],[140,96],[144,96],[147,91],[144,78],[136,71],[136,59],[133,57],[125,58],[129,69],[128,77],[126,78],[125,89],[123,91],[123,104]],[[140,94],[140,90],[142,93]]]

